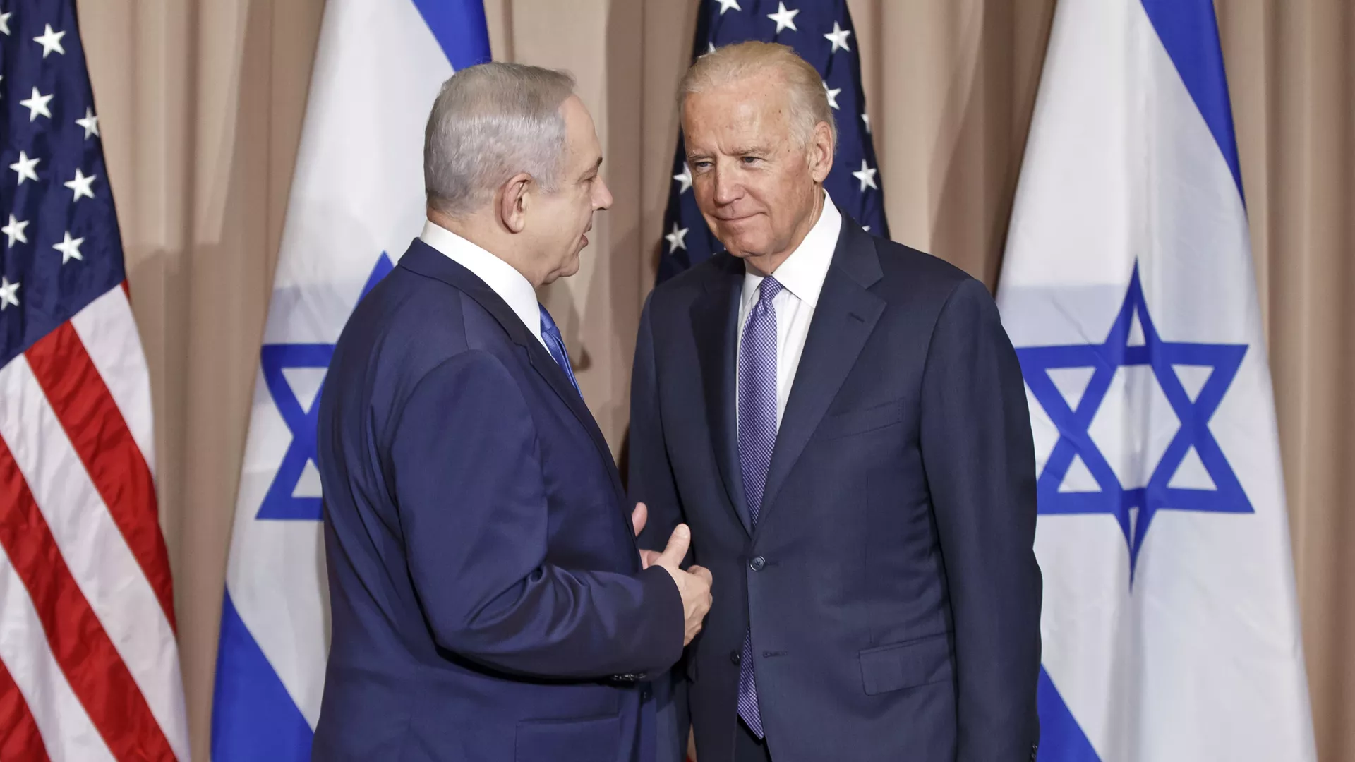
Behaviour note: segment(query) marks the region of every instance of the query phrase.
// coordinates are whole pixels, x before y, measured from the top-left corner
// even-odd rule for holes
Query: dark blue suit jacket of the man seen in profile
[[[682,655],[678,587],[640,571],[602,433],[482,281],[411,245],[335,347],[318,460],[314,759],[648,758],[641,678]]]

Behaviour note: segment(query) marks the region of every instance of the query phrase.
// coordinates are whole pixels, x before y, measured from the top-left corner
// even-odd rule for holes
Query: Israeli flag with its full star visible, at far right
[[[1210,0],[1060,0],[999,282],[1035,435],[1039,759],[1314,759]]]

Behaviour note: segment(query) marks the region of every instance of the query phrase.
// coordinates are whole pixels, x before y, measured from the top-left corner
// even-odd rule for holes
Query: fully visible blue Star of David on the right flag
[[[1134,316],[1142,327],[1144,343],[1130,346]],[[1220,449],[1209,420],[1218,409],[1224,395],[1237,376],[1247,354],[1247,344],[1195,344],[1165,342],[1153,327],[1138,278],[1138,264],[1125,294],[1125,302],[1111,325],[1110,335],[1100,344],[1068,344],[1051,347],[1023,347],[1016,350],[1022,374],[1031,393],[1058,428],[1058,441],[1045,462],[1037,483],[1041,514],[1111,514],[1119,522],[1129,544],[1129,572],[1133,583],[1138,564],[1138,550],[1148,536],[1148,527],[1157,511],[1253,513],[1243,485],[1237,481],[1228,458]],[[1126,489],[1089,434],[1092,419],[1106,399],[1115,370],[1146,365],[1161,385],[1180,428],[1172,437],[1161,460],[1153,468],[1146,487]],[[1209,369],[1209,378],[1191,401],[1175,366]],[[1054,385],[1049,372],[1064,367],[1091,367],[1092,377],[1077,403],[1077,409]],[[1214,489],[1169,487],[1191,447]],[[1075,457],[1081,457],[1096,479],[1096,492],[1061,492]],[[1131,511],[1138,513],[1137,519]]]

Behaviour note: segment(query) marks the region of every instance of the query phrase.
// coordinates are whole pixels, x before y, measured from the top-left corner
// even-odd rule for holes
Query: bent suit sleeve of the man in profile
[[[660,671],[682,655],[668,572],[546,563],[539,443],[496,357],[462,353],[428,372],[400,412],[390,462],[409,574],[439,645],[546,678]]]

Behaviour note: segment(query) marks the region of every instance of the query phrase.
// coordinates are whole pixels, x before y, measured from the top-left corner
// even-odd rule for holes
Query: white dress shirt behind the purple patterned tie
[[[804,354],[805,339],[809,336],[809,321],[814,317],[814,306],[818,305],[818,293],[824,289],[828,266],[833,262],[841,226],[843,216],[833,206],[833,199],[828,198],[828,191],[824,191],[824,210],[818,214],[818,221],[795,251],[772,273],[772,278],[783,286],[771,300],[776,310],[776,428],[780,428],[780,419],[786,414],[790,385],[795,381],[799,355]],[[762,282],[763,277],[745,266],[744,290],[738,297],[740,353],[744,346],[744,325],[748,323],[748,313],[757,304],[757,289]],[[737,411],[738,405],[734,405],[734,409]],[[737,412],[734,415],[737,419]]]

